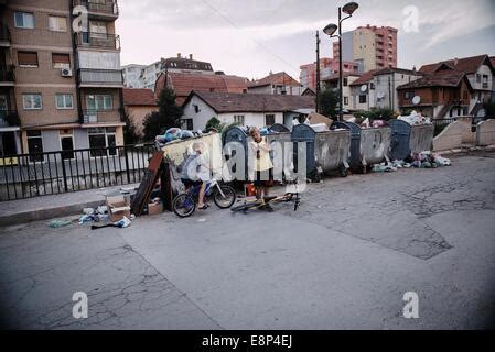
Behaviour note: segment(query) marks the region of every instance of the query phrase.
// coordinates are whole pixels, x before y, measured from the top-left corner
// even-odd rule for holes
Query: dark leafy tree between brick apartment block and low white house
[[[175,92],[172,89],[164,88],[160,92],[158,106],[159,111],[148,114],[142,123],[147,141],[154,140],[168,129],[181,127],[183,109],[175,103]]]

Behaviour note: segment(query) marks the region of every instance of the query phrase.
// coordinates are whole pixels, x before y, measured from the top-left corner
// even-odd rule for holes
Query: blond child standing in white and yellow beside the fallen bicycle
[[[262,196],[268,197],[270,187],[273,182],[273,164],[270,160],[270,145],[267,141],[261,138],[261,133],[258,128],[251,128],[249,131],[252,141],[249,142],[249,156],[254,157],[255,172],[255,187],[256,187],[256,199],[263,200]],[[261,206],[259,209],[267,210],[269,212],[273,211],[273,208],[269,204]]]

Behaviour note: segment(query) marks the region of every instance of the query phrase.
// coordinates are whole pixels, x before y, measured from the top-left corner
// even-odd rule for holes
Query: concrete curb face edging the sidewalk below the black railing
[[[0,216],[0,227],[10,227],[19,223],[28,223],[32,221],[42,221],[67,216],[80,215],[84,208],[96,208],[100,205],[101,200],[93,200],[77,205],[69,205],[55,208],[44,208],[7,216]]]

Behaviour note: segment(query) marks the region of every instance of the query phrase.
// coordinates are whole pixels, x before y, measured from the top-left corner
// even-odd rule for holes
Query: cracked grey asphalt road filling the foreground
[[[301,209],[90,231],[0,229],[3,327],[483,329],[495,312],[495,153],[327,178]],[[72,316],[73,293],[88,318]],[[402,315],[418,294],[419,318]]]

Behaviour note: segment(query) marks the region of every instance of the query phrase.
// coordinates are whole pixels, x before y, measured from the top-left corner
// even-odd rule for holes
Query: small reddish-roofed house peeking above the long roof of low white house
[[[300,96],[302,91],[302,85],[287,73],[270,73],[248,85],[248,94]]]

